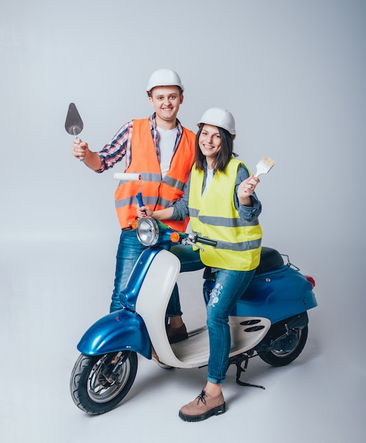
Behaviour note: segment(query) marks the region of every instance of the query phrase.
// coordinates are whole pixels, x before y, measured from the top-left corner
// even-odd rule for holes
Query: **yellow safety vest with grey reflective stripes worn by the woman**
[[[202,198],[204,171],[194,166],[190,176],[190,224],[199,236],[217,241],[216,248],[202,245],[203,263],[229,270],[253,270],[261,257],[262,230],[258,219],[239,217],[233,195],[240,161],[231,159],[224,172],[217,171]],[[224,192],[222,192],[224,190]]]

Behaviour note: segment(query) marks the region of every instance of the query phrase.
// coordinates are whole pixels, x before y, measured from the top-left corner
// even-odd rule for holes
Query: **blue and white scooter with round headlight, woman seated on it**
[[[215,246],[215,241],[174,231],[149,217],[139,219],[135,227],[147,248],[120,294],[122,309],[96,321],[77,345],[81,355],[72,370],[70,390],[76,406],[86,413],[105,413],[122,401],[135,381],[138,354],[163,367],[188,369],[208,362],[207,326],[191,330],[187,340],[170,344],[165,314],[181,269],[176,255],[169,252],[171,245],[204,248]],[[211,276],[204,272],[206,300],[215,284]],[[229,316],[229,365],[236,365],[238,384],[257,386],[240,380],[251,357],[285,366],[299,356],[307,341],[307,311],[317,305],[314,286],[314,279],[302,275],[287,255],[262,248],[256,274]]]

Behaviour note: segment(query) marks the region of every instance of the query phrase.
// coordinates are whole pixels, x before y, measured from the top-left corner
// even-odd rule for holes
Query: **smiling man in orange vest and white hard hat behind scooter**
[[[154,114],[149,118],[127,122],[115,134],[112,142],[98,152],[91,151],[88,143],[74,139],[72,154],[76,159],[83,159],[85,165],[97,173],[113,168],[125,158],[125,172],[142,176],[144,205],[151,210],[167,207],[183,195],[195,156],[195,134],[182,127],[177,119],[183,103],[183,91],[181,79],[175,71],[154,71],[147,85],[147,96]],[[115,191],[121,235],[110,312],[121,309],[120,291],[144,249],[131,227],[136,218],[139,188],[139,182],[121,181]],[[183,222],[169,220],[166,223],[174,229],[185,231],[188,219]],[[167,309],[167,333],[171,343],[188,337],[181,314],[178,287],[175,287]]]

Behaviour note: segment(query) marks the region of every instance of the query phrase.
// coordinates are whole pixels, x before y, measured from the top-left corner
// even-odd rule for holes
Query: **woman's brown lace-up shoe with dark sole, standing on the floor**
[[[217,397],[209,396],[204,389],[195,400],[182,406],[179,417],[185,422],[200,422],[212,415],[221,415],[226,411],[222,393]]]

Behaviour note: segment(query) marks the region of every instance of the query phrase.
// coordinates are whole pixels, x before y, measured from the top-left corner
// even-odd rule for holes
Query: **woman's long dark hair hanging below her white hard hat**
[[[205,169],[204,161],[205,156],[202,154],[200,150],[200,145],[198,140],[200,139],[200,134],[202,132],[202,127],[204,127],[204,123],[200,124],[199,130],[195,136],[195,167],[199,171],[203,171]],[[221,137],[221,149],[217,153],[217,157],[215,159],[214,167],[217,171],[224,171],[227,167],[227,163],[229,163],[231,157],[233,156],[233,138],[229,131],[224,130],[224,128],[217,126],[219,130],[219,134]]]

